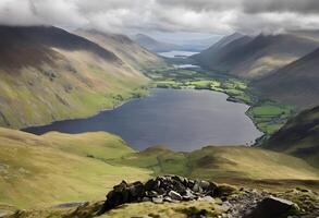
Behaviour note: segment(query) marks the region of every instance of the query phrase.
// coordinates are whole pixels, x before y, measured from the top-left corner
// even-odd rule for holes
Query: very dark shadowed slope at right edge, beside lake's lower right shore
[[[263,147],[304,158],[319,167],[319,106],[291,119]]]

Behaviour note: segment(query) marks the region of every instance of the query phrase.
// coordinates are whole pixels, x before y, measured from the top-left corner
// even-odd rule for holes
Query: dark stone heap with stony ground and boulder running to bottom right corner
[[[300,191],[311,192],[309,190]],[[317,193],[312,194],[317,198],[314,201],[312,207],[306,211],[298,204],[275,197],[271,193],[245,189],[237,190],[230,185],[218,185],[213,182],[191,180],[179,175],[164,175],[148,180],[146,183],[137,181],[127,184],[122,181],[109,192],[99,214],[105,214],[122,204],[137,202],[162,204],[163,202],[220,201],[221,207],[217,209],[219,213],[201,211],[200,214],[199,211],[194,217],[318,217],[319,202],[316,201],[319,201],[319,198]],[[310,206],[311,202],[308,203],[308,206]]]

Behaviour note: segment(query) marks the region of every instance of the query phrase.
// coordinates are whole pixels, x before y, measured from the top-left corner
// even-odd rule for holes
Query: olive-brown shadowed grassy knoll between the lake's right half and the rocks
[[[319,179],[318,170],[302,159],[251,147],[209,146],[189,154],[154,147],[115,162],[147,168],[156,174],[174,173],[219,181]]]

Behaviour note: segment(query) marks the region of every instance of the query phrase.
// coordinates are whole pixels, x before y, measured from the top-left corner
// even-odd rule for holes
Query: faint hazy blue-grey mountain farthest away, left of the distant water
[[[172,50],[181,50],[183,49],[182,46],[177,46],[174,44],[158,41],[147,35],[137,34],[133,37],[134,41],[136,41],[142,47],[146,48],[147,50],[154,52],[167,52]]]

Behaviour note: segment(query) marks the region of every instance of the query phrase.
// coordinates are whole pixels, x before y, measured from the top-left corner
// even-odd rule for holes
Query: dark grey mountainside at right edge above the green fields
[[[254,82],[253,86],[263,96],[298,108],[319,105],[319,48],[272,75]]]

